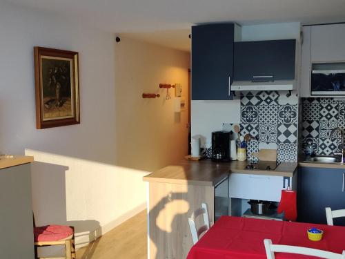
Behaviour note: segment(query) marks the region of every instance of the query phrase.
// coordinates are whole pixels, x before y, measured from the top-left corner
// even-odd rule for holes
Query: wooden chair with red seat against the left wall
[[[34,221],[33,221],[34,222]],[[57,238],[55,236],[54,231],[51,231],[49,227],[52,227],[53,229],[68,229],[70,231],[70,236],[67,236],[66,238]],[[42,229],[48,229],[49,233],[51,235],[46,235],[44,240],[39,240],[38,234]],[[44,235],[42,233],[42,235]],[[35,259],[53,259],[53,258],[42,258],[38,257],[37,249],[38,247],[48,247],[48,246],[55,246],[55,245],[64,245],[65,246],[65,257],[59,257],[54,259],[76,259],[77,256],[75,254],[75,228],[74,227],[66,227],[66,226],[59,226],[59,225],[50,225],[50,226],[44,226],[44,227],[36,227],[34,222],[34,258]]]

